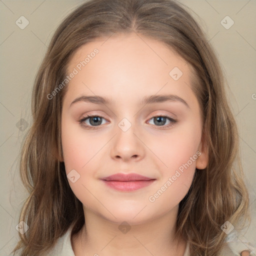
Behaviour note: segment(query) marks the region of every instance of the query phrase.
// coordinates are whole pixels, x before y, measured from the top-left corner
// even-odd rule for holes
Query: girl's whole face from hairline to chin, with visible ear
[[[162,42],[132,33],[81,46],[67,73],[63,161],[84,210],[142,223],[177,209],[195,168],[206,166],[189,65]],[[106,178],[116,173],[147,181]]]

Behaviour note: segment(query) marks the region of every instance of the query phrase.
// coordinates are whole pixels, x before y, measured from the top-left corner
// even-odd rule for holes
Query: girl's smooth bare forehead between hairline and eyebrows
[[[82,45],[70,59],[67,74],[74,69],[77,74],[68,83],[73,96],[83,92],[125,95],[125,101],[157,91],[192,92],[186,61],[163,42],[136,33],[114,34]]]

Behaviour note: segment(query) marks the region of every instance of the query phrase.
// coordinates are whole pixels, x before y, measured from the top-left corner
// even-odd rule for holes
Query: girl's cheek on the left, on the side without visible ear
[[[71,124],[70,121],[62,119],[61,123],[61,144],[65,172],[70,188],[75,196],[83,204],[93,204],[94,198],[89,191],[93,189],[88,186],[93,178],[97,152],[101,146],[99,141],[85,135],[82,129],[77,130],[77,123]],[[72,178],[74,177],[74,178]],[[84,198],[86,201],[84,202]]]

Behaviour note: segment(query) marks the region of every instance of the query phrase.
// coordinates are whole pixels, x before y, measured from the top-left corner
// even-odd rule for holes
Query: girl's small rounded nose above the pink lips
[[[117,127],[116,135],[111,143],[111,157],[115,160],[129,161],[141,160],[144,157],[145,148],[143,138],[131,125],[126,131]]]

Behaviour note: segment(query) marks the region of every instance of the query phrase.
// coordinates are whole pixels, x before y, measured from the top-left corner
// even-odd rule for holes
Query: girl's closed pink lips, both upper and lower
[[[103,182],[119,191],[133,191],[150,185],[155,178],[145,177],[136,173],[117,173],[102,178]]]

